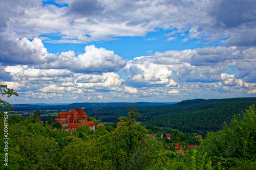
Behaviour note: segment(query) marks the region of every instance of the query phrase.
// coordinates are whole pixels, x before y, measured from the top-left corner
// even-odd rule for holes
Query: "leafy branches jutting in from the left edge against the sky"
[[[7,95],[7,98],[10,98],[12,95],[18,96],[18,93],[15,92],[13,89],[7,87],[7,85],[0,85],[0,94]],[[0,99],[0,117],[4,116],[4,111],[11,111],[14,110],[12,104]]]

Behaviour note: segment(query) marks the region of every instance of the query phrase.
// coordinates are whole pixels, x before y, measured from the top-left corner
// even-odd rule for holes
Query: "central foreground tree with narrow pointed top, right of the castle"
[[[95,169],[148,169],[165,158],[161,155],[161,142],[147,136],[147,130],[136,123],[135,118],[142,116],[135,106],[129,107],[128,114],[129,117],[120,117],[117,128],[101,136],[91,149],[98,159]]]

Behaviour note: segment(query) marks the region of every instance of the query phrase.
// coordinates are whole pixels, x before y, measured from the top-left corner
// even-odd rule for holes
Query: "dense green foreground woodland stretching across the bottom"
[[[15,93],[7,91],[5,94],[11,96]],[[204,108],[207,106],[204,102],[209,102],[211,106],[211,101],[200,101],[184,101],[178,105],[183,105],[184,110]],[[0,156],[4,158],[8,153],[8,166],[2,161],[1,169],[256,169],[254,105],[247,106],[249,109],[242,113],[238,111],[237,116],[222,124],[222,130],[206,135],[203,132],[182,132],[168,126],[154,126],[147,122],[138,124],[136,120],[144,120],[145,117],[135,106],[128,107],[126,116],[120,116],[119,122],[115,121],[111,126],[99,126],[95,132],[81,126],[71,134],[57,123],[51,127],[49,124],[54,120],[41,122],[39,110],[25,120],[20,115],[6,118],[4,111],[12,107],[3,102],[5,107],[1,108],[0,129],[4,132],[8,127],[9,139],[6,151],[6,136],[1,133]],[[229,104],[223,103],[217,102],[218,107],[212,105],[210,109],[222,108],[224,111],[224,108],[229,108]],[[241,101],[236,102],[237,108],[240,104]],[[210,116],[210,113],[205,116]],[[99,120],[89,118],[99,123]],[[53,131],[53,128],[58,130]],[[157,136],[170,133],[172,140],[153,138],[147,136],[148,133],[156,133]],[[205,136],[201,139],[195,138],[195,135]],[[200,146],[197,149],[186,148],[181,154],[172,147],[167,149],[170,143],[177,142]]]

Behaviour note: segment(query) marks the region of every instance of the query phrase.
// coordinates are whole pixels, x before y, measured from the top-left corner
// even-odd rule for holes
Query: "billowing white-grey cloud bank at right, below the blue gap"
[[[236,47],[203,47],[194,50],[157,52],[130,60],[121,69],[129,74],[132,87],[185,87],[190,83],[221,83],[222,86],[242,86],[255,82],[254,48],[242,52]],[[229,66],[236,65],[239,75],[227,75]],[[242,78],[242,79],[241,79]],[[249,81],[250,80],[250,81]],[[220,85],[218,85],[220,86]]]

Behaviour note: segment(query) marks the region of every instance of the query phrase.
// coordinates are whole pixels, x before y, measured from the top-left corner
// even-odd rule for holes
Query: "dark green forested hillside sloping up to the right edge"
[[[233,98],[211,100],[186,100],[174,105],[154,107],[144,111],[149,118],[145,125],[170,127],[183,132],[217,131],[234,115],[256,105],[256,98]],[[152,114],[155,112],[155,115]]]

